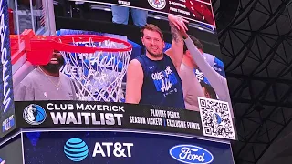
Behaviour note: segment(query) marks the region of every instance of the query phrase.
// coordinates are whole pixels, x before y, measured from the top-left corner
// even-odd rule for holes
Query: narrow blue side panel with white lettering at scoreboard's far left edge
[[[0,64],[0,123],[2,131],[0,138],[15,128],[14,124],[14,95],[12,82],[12,67],[9,40],[9,15],[7,1],[0,0],[1,24],[1,64]]]

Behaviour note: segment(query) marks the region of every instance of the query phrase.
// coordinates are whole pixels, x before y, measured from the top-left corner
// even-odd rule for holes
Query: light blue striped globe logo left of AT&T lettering
[[[64,145],[64,153],[72,161],[82,161],[89,155],[89,147],[80,138],[70,138]]]

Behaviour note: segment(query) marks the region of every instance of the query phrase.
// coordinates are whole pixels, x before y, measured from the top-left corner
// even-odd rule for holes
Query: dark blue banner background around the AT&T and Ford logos
[[[69,138],[81,138],[89,147],[89,156],[83,164],[174,164],[180,163],[172,159],[169,150],[176,145],[190,144],[207,149],[214,156],[213,164],[232,164],[233,158],[229,144],[154,134],[130,132],[29,132],[24,135],[25,160],[27,164],[73,164],[63,152],[63,147]],[[92,158],[96,142],[130,142],[131,158],[103,158],[97,154]],[[102,147],[106,153],[106,147]],[[126,151],[125,151],[126,152]]]

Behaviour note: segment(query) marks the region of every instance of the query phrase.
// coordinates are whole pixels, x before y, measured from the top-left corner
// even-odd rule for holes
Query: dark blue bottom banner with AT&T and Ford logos
[[[26,132],[24,150],[26,163],[41,164],[234,163],[230,144],[113,131]]]

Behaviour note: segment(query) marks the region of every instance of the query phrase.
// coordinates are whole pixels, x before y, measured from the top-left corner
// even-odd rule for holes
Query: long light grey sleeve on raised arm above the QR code
[[[184,42],[188,50],[190,51],[191,55],[193,56],[193,60],[196,62],[197,66],[201,69],[201,71],[203,72],[203,75],[207,77],[211,86],[214,88],[214,91],[218,95],[219,99],[228,102],[229,108],[231,109],[231,112],[233,112],[226,78],[218,74],[214,70],[214,68],[211,67],[205,61],[201,52],[193,44],[193,41],[191,40],[190,37],[186,38]]]

